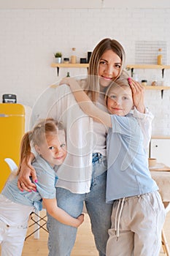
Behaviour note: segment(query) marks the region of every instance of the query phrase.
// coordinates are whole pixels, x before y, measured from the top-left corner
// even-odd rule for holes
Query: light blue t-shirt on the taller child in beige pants
[[[150,175],[143,135],[134,116],[112,115],[107,135],[107,203],[158,190]]]

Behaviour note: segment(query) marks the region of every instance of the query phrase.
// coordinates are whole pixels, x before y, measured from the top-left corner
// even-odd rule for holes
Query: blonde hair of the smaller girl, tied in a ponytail
[[[18,173],[20,173],[20,168],[23,159],[28,163],[28,158],[31,154],[31,145],[39,146],[45,141],[47,135],[57,135],[58,130],[63,130],[63,124],[61,122],[55,121],[53,118],[47,118],[45,120],[39,121],[33,130],[26,132],[20,143],[20,162],[18,167]]]

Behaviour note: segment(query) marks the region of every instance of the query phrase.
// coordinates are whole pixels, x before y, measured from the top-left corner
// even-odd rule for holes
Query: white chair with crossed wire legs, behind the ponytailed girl
[[[4,161],[7,162],[7,164],[9,165],[11,172],[18,170],[18,165],[16,165],[16,163],[13,159],[5,158]],[[43,209],[43,210],[45,210],[45,209]],[[43,230],[48,232],[48,230],[44,227],[47,223],[46,217],[47,217],[46,212],[45,212],[44,217],[41,217],[39,215],[39,211],[37,211],[37,210],[31,213],[31,220],[33,221],[33,224],[29,225],[28,227],[31,227],[34,225],[34,231],[32,233],[30,233],[28,236],[26,236],[26,238],[28,238],[34,234],[34,238],[39,239],[40,228],[42,228]],[[43,221],[43,224],[40,224],[40,221]]]

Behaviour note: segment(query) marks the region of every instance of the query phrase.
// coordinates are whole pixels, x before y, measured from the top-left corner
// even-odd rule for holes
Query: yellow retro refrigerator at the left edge
[[[20,141],[25,132],[25,108],[18,103],[0,103],[0,192],[10,174],[4,159],[19,163]]]

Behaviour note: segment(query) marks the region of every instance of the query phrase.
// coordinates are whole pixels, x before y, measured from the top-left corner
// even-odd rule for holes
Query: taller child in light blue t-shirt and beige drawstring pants
[[[158,256],[165,209],[148,169],[143,135],[132,115],[128,77],[109,86],[109,113],[96,107],[72,78],[69,84],[82,110],[109,127],[107,135],[107,203],[113,203],[107,256]],[[131,83],[131,82],[130,82]]]

